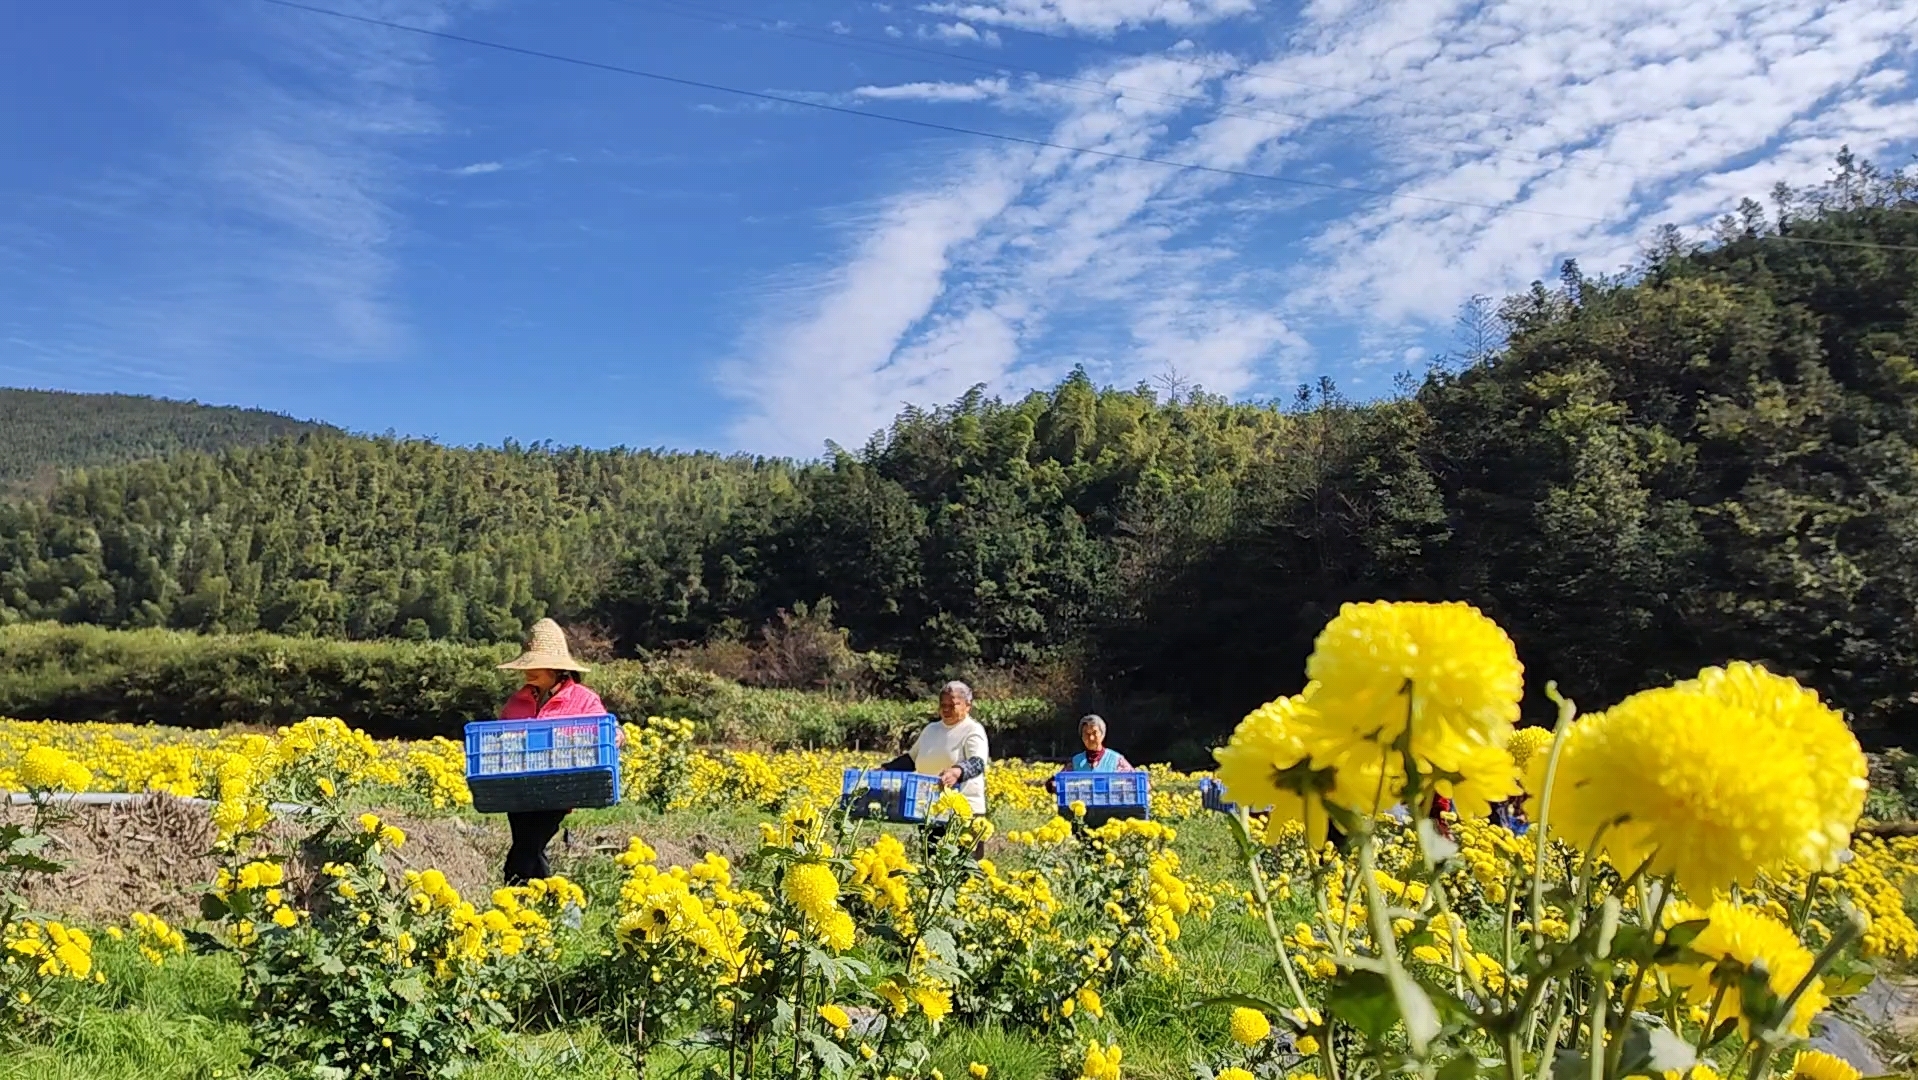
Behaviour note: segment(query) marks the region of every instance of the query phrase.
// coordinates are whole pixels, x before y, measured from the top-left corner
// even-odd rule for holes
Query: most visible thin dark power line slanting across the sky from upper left
[[[901,117],[901,115],[894,115],[894,113],[877,113],[877,111],[871,111],[871,109],[855,109],[855,107],[850,107],[850,106],[832,106],[832,104],[827,104],[827,102],[807,102],[806,98],[792,98],[788,94],[771,94],[771,92],[765,92],[765,90],[744,90],[740,86],[725,86],[725,84],[719,84],[719,82],[706,82],[706,81],[700,81],[700,79],[683,79],[679,75],[664,75],[664,73],[646,71],[646,69],[641,69],[641,67],[625,67],[625,65],[620,65],[620,63],[602,63],[598,59],[581,59],[577,56],[566,56],[566,54],[558,54],[558,52],[545,52],[545,50],[537,50],[537,48],[504,44],[504,42],[476,38],[476,36],[468,36],[468,35],[455,35],[455,33],[447,33],[447,31],[432,31],[432,29],[426,29],[426,27],[412,27],[412,25],[395,23],[395,21],[389,21],[389,19],[376,19],[372,15],[357,15],[353,12],[338,12],[338,10],[332,10],[332,8],[318,8],[315,4],[299,4],[297,0],[261,0],[261,4],[272,4],[276,8],[290,8],[290,10],[295,10],[295,12],[309,12],[309,13],[315,13],[315,15],[328,15],[328,17],[334,17],[334,19],[345,19],[345,21],[353,21],[353,23],[364,23],[368,27],[384,27],[384,29],[389,29],[389,31],[403,31],[403,33],[409,33],[409,35],[420,35],[420,36],[430,36],[430,38],[439,38],[439,40],[449,40],[449,42],[458,42],[458,44],[470,44],[470,46],[478,46],[478,48],[491,48],[491,50],[497,50],[497,52],[510,52],[510,54],[516,54],[516,56],[531,56],[531,58],[537,58],[537,59],[550,59],[550,61],[556,61],[556,63],[572,63],[575,67],[591,67],[595,71],[612,71],[616,75],[633,75],[637,79],[652,79],[656,82],[667,82],[667,84],[673,84],[673,86],[690,86],[694,90],[712,90],[712,92],[717,92],[717,94],[735,94],[735,96],[740,96],[740,98],[754,98],[754,100],[760,100],[760,102],[777,102],[781,106],[796,106],[796,107],[819,109],[819,111],[827,111],[827,113],[840,113],[840,115],[848,115],[848,117],[865,117],[865,119],[875,119],[875,121],[888,121],[888,123],[909,125],[909,127],[917,127],[917,129],[924,129],[924,130],[942,130],[942,132],[947,132],[947,134],[967,134],[967,136],[972,136],[972,138],[994,138],[994,140],[999,140],[999,142],[1013,142],[1013,144],[1034,146],[1034,148],[1041,148],[1041,150],[1061,150],[1061,152],[1066,152],[1066,153],[1086,153],[1086,155],[1091,155],[1091,157],[1107,157],[1107,159],[1112,159],[1112,161],[1135,161],[1135,163],[1141,163],[1141,165],[1162,165],[1166,169],[1183,169],[1183,171],[1193,171],[1193,173],[1210,173],[1210,175],[1216,175],[1216,176],[1235,176],[1235,178],[1241,178],[1241,180],[1268,180],[1268,182],[1274,182],[1274,184],[1293,184],[1293,186],[1300,186],[1300,188],[1318,188],[1318,190],[1325,190],[1325,192],[1345,192],[1345,194],[1352,194],[1352,196],[1373,196],[1373,198],[1383,198],[1383,200],[1412,200],[1412,201],[1435,203],[1435,205],[1448,205],[1448,207],[1485,209],[1485,211],[1492,211],[1492,213],[1523,213],[1523,215],[1532,215],[1532,217],[1555,217],[1555,219],[1563,219],[1563,221],[1584,221],[1584,223],[1607,224],[1607,221],[1602,219],[1602,217],[1592,217],[1592,215],[1582,215],[1582,213],[1559,213],[1559,211],[1531,209],[1531,207],[1500,207],[1500,205],[1492,205],[1492,203],[1475,203],[1475,201],[1467,201],[1467,200],[1446,200],[1446,198],[1438,198],[1438,196],[1414,196],[1414,194],[1406,194],[1406,192],[1391,192],[1391,190],[1381,190],[1381,188],[1362,188],[1362,186],[1356,186],[1356,184],[1335,184],[1331,180],[1304,180],[1304,178],[1298,178],[1298,176],[1279,176],[1275,173],[1254,173],[1251,169],[1226,169],[1222,165],[1203,165],[1203,163],[1197,163],[1197,161],[1172,161],[1172,159],[1166,159],[1166,157],[1153,157],[1153,155],[1147,155],[1147,153],[1124,153],[1120,150],[1095,150],[1091,146],[1068,146],[1068,144],[1051,142],[1051,140],[1045,140],[1045,138],[1030,138],[1030,136],[1022,136],[1022,134],[1007,134],[1007,132],[997,132],[997,130],[984,130],[984,129],[974,129],[974,127],[963,127],[963,125],[924,121],[924,119]]]

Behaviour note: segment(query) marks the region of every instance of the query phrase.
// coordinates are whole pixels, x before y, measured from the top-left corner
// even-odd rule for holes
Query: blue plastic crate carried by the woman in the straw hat
[[[466,787],[480,813],[620,802],[620,719],[558,716],[466,725]]]

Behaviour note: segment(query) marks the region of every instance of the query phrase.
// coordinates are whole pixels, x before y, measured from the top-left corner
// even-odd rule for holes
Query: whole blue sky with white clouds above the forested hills
[[[792,455],[1074,364],[1375,395],[1473,293],[1918,132],[1908,0],[315,4],[1120,157],[263,0],[10,0],[0,384]]]

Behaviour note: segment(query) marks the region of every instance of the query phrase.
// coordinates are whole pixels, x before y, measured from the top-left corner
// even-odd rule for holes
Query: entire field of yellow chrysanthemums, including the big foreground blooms
[[[449,740],[0,721],[0,1076],[1859,1076],[1807,1040],[1918,961],[1918,840],[1859,829],[1814,689],[1730,664],[1517,727],[1463,604],[1348,606],[1304,675],[1220,748],[1235,813],[1155,769],[1097,827],[1053,765],[877,825],[836,806],[871,756],[646,719],[522,888]],[[82,890],[127,856],[82,834],[155,821],[192,842]]]

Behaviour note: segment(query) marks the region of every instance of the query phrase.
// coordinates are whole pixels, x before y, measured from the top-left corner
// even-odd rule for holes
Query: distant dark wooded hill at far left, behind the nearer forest
[[[259,409],[0,387],[0,495],[44,491],[65,468],[261,445],[324,430],[330,428]]]

